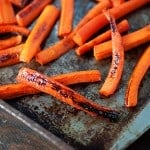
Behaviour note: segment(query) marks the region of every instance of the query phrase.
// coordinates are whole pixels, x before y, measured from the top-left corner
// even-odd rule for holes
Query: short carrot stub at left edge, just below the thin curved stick
[[[14,36],[5,40],[0,40],[0,50],[6,49],[15,45],[18,45],[22,42],[22,36]]]

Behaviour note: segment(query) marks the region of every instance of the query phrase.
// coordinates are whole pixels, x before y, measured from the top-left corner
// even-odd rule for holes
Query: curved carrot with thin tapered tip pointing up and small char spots
[[[112,63],[108,76],[99,92],[101,95],[110,96],[116,91],[122,76],[124,66],[124,48],[122,37],[117,29],[114,17],[111,16],[108,11],[104,11],[104,14],[109,20],[111,28]]]

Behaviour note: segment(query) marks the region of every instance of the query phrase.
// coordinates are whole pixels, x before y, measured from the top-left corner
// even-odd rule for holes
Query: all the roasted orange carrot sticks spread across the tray
[[[0,39],[0,67],[35,60],[41,65],[52,62],[75,48],[75,53],[82,56],[93,49],[95,60],[102,60],[112,55],[112,64],[108,75],[99,90],[105,97],[117,91],[124,70],[124,55],[127,50],[150,41],[150,25],[132,33],[129,22],[116,20],[148,4],[149,0],[97,0],[79,23],[73,28],[74,0],[60,0],[60,8],[52,0],[1,0],[0,34],[11,33]],[[14,11],[14,6],[18,11]],[[7,13],[6,13],[7,12]],[[57,36],[61,39],[42,50],[55,23],[59,21]],[[32,29],[29,26],[34,22]],[[110,30],[89,40],[103,27],[110,25]],[[126,33],[122,35],[123,33]],[[129,79],[125,94],[125,106],[134,107],[138,102],[138,88],[150,66],[150,46],[145,50]],[[108,107],[94,103],[68,85],[98,82],[101,80],[99,70],[76,71],[47,77],[30,68],[21,68],[17,83],[1,85],[0,98],[12,99],[40,91],[54,96],[78,110],[91,116],[118,120],[120,113]]]

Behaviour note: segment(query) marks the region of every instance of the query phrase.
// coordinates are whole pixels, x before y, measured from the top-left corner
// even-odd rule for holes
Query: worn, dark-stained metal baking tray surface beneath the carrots
[[[58,0],[54,1],[54,4],[60,7]],[[78,23],[93,5],[94,1],[91,0],[75,1],[74,25]],[[131,26],[129,32],[139,29],[150,23],[149,7],[142,7],[127,15],[126,18],[129,20]],[[48,47],[58,40],[57,29],[58,22],[43,47]],[[8,103],[76,149],[111,149],[112,147],[114,149],[117,147],[123,149],[150,128],[148,118],[144,120],[144,117],[145,125],[141,127],[136,125],[136,120],[141,116],[142,112],[145,110],[148,113],[148,109],[145,108],[149,107],[150,103],[150,72],[146,74],[140,85],[138,106],[135,109],[124,107],[125,90],[130,74],[147,46],[148,43],[126,53],[124,73],[119,89],[113,96],[107,99],[101,98],[98,90],[106,78],[111,58],[95,61],[92,53],[78,57],[74,49],[44,66],[40,66],[32,61],[30,64],[22,63],[12,67],[1,68],[0,81],[1,84],[15,82],[18,70],[22,66],[36,69],[48,76],[78,70],[100,70],[102,74],[101,82],[74,85],[71,88],[99,104],[122,111],[123,115],[118,123],[111,123],[105,119],[90,117],[84,112],[77,111],[47,94],[25,96],[9,101]],[[143,120],[142,118],[138,119],[139,122],[143,122]],[[132,127],[134,127],[134,131],[130,130],[130,134],[128,134],[128,129],[132,129]],[[130,141],[127,135],[130,135]],[[122,139],[120,143],[118,142],[119,138]]]

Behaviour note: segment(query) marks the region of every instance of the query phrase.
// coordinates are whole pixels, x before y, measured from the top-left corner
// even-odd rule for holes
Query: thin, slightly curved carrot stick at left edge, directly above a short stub
[[[24,27],[19,27],[17,25],[1,25],[0,33],[19,33],[24,36],[28,36],[30,34],[30,30]]]

